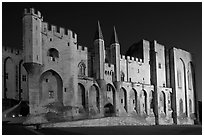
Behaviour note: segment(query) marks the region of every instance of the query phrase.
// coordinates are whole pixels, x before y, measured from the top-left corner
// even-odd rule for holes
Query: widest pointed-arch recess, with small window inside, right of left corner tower
[[[40,77],[40,103],[62,102],[62,79],[53,70],[44,72]]]

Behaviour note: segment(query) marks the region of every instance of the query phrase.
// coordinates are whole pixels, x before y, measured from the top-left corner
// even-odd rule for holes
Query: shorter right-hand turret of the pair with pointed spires
[[[113,34],[110,43],[110,59],[111,63],[115,66],[113,81],[120,81],[120,44],[115,27],[113,28]]]

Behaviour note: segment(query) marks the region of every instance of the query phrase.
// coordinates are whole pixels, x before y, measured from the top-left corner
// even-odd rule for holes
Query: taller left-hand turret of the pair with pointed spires
[[[93,71],[96,79],[104,79],[104,62],[105,62],[105,48],[104,39],[101,31],[100,23],[94,37],[94,48],[93,48]]]

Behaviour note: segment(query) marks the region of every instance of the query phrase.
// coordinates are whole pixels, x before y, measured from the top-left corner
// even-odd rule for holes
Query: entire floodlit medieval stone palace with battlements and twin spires
[[[88,50],[73,31],[25,9],[23,51],[3,47],[3,100],[27,101],[30,116],[45,119],[133,116],[149,124],[194,124],[189,52],[141,40],[121,55],[115,28],[110,43],[99,22]]]

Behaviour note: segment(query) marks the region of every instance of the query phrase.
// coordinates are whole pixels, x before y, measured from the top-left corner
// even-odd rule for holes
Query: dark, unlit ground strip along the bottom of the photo
[[[3,135],[201,135],[202,126],[108,126],[66,127],[35,130],[22,125],[3,124]]]

